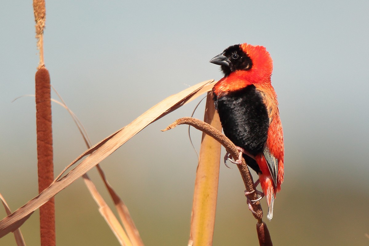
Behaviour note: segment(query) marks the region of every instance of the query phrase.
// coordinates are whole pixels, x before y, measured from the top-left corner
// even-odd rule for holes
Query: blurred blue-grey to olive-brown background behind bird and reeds
[[[0,193],[14,211],[37,195],[34,97],[12,101],[34,94],[39,58],[32,1],[1,5]],[[45,63],[97,143],[164,98],[220,79],[208,61],[228,46],[265,46],[286,153],[267,221],[273,243],[369,245],[368,9],[366,0],[46,1]],[[187,127],[160,129],[199,101],[101,163],[145,245],[187,245],[197,156]],[[86,146],[68,112],[55,103],[52,110],[56,175]],[[191,135],[198,149],[201,134]],[[110,202],[96,170],[89,174]],[[243,191],[238,169],[221,164],[214,245],[258,244]],[[56,195],[56,220],[58,245],[118,245],[81,179]],[[27,245],[39,245],[38,212],[21,231]],[[15,245],[13,235],[0,245]]]

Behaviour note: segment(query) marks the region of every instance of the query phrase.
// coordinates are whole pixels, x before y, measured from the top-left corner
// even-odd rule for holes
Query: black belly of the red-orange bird
[[[269,117],[255,86],[250,85],[220,97],[213,93],[213,96],[225,136],[252,155],[261,153],[268,137]],[[256,173],[260,173],[254,159],[246,155],[244,158]]]

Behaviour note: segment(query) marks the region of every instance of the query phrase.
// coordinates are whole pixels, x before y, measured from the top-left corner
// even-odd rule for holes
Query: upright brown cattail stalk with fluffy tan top
[[[46,20],[45,0],[34,0],[35,28],[40,61],[35,75],[36,132],[38,192],[46,189],[54,179],[52,148],[51,88],[49,71],[44,65],[44,28]],[[56,245],[54,198],[40,208],[41,245]]]

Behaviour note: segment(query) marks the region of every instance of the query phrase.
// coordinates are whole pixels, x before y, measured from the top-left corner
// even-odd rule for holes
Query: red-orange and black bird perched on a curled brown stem
[[[229,46],[210,62],[224,73],[212,90],[224,135],[240,150],[236,162],[244,157],[258,174],[255,185],[261,184],[260,199],[265,195],[271,220],[284,177],[283,129],[271,84],[273,60],[264,46],[244,43]]]

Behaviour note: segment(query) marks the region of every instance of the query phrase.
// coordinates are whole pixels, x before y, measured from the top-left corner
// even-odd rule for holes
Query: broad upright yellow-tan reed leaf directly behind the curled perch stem
[[[220,119],[208,92],[204,121],[219,131]],[[217,208],[221,144],[203,133],[193,195],[189,245],[213,245]]]

